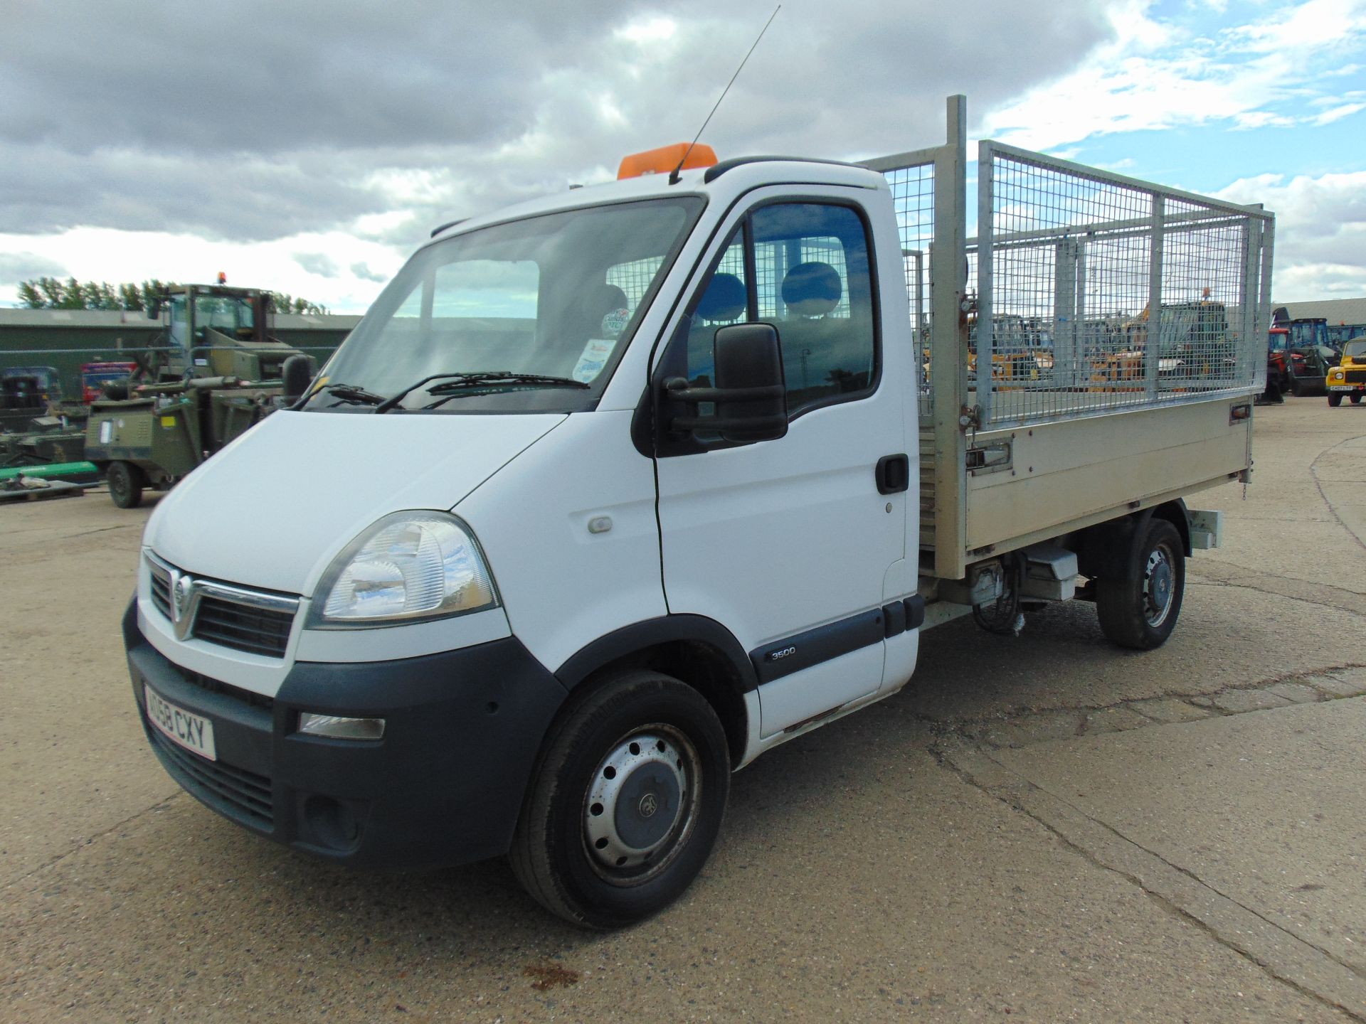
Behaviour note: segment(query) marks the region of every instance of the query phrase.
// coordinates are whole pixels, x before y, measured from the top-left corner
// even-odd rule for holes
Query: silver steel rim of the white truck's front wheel
[[[676,791],[669,791],[668,781]],[[669,796],[676,796],[673,806]],[[682,730],[663,722],[632,729],[612,744],[589,778],[581,815],[587,863],[612,885],[656,878],[687,845],[701,796],[701,756]]]

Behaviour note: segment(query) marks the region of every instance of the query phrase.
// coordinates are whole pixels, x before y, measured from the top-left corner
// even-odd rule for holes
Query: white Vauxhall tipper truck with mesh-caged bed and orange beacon
[[[124,639],[206,806],[337,863],[510,855],[613,927],[926,627],[1171,634],[1220,526],[1184,498],[1251,467],[1270,214],[982,142],[970,218],[962,97],[862,165],[683,156],[438,231],[161,500]]]

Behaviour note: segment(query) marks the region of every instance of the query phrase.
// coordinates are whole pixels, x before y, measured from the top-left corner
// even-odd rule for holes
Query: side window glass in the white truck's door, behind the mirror
[[[749,228],[751,259],[742,225],[693,303],[688,382],[714,382],[717,328],[757,321],[777,328],[790,416],[870,390],[877,345],[863,221],[847,206],[777,203],[754,210]]]

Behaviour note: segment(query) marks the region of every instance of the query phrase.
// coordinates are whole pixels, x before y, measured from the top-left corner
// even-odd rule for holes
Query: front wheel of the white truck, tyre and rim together
[[[615,674],[552,730],[512,837],[512,871],[576,924],[649,918],[706,863],[729,782],[725,730],[701,694],[657,672]]]

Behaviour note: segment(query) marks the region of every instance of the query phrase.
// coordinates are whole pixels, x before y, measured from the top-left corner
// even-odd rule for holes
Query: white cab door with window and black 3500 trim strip
[[[880,380],[866,214],[854,190],[811,191],[759,193],[732,216],[654,374],[709,386],[720,326],[779,332],[787,436],[664,441],[656,460],[669,612],[714,618],[750,651],[764,736],[877,691],[884,578],[904,556],[906,493],[877,479],[906,448],[902,396]]]

